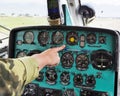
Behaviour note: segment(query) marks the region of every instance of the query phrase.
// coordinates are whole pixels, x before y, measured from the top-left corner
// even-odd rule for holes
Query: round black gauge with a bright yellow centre
[[[76,32],[69,32],[67,34],[66,41],[69,45],[75,45],[78,43],[78,34]]]

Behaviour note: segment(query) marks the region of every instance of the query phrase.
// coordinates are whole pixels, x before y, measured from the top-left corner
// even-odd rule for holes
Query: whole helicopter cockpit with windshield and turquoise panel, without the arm
[[[66,45],[59,65],[43,68],[22,96],[119,96],[118,0],[9,0],[2,5],[1,58]]]

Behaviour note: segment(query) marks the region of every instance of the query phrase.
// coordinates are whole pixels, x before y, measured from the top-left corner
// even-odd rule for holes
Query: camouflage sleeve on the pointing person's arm
[[[24,85],[38,73],[38,64],[31,57],[0,59],[0,96],[21,96]]]

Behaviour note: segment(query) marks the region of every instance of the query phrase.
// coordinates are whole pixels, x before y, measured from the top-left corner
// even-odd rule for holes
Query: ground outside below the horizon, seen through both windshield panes
[[[9,29],[23,26],[48,25],[47,17],[23,17],[23,16],[0,16],[0,25]],[[120,18],[95,18],[88,24],[89,27],[109,28],[120,31]],[[8,31],[0,28],[0,32],[9,34]]]

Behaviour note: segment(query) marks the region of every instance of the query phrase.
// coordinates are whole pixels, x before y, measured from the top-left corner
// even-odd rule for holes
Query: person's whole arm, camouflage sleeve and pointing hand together
[[[58,51],[64,48],[65,45],[30,57],[0,59],[0,96],[20,96],[24,85],[34,80],[44,66],[59,63]]]

